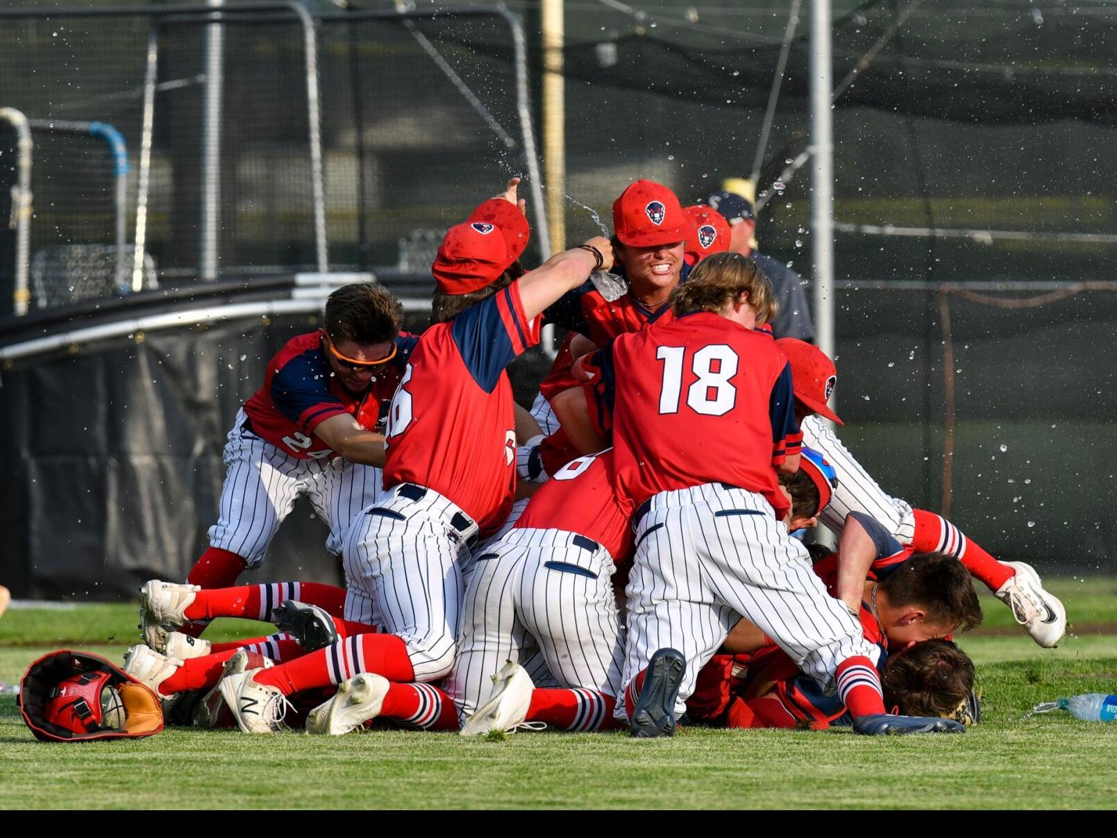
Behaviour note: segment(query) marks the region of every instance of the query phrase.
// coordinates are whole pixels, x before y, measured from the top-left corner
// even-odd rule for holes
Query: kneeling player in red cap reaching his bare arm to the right
[[[354,520],[346,539],[345,618],[386,634],[226,678],[220,688],[242,730],[276,730],[286,695],[357,673],[398,683],[449,673],[468,543],[496,530],[513,502],[517,439],[505,368],[538,341],[544,308],[612,265],[609,241],[596,238],[524,274],[528,227],[517,183],[442,240],[432,267],[433,325],[392,400],[389,494]]]

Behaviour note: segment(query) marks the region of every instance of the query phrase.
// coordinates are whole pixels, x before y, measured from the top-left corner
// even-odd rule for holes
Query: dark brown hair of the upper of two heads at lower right
[[[913,555],[885,577],[880,589],[894,606],[923,607],[928,622],[958,626],[960,631],[966,631],[982,620],[970,571],[943,553]]]

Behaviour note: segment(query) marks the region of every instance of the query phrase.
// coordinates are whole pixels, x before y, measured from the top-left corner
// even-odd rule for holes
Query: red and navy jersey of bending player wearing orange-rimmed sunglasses
[[[395,339],[395,356],[378,368],[363,393],[351,393],[334,375],[322,333],[293,337],[268,361],[264,387],[245,402],[251,431],[297,459],[336,457],[333,449],[314,435],[326,419],[349,413],[365,430],[383,432],[388,406],[399,387],[416,335]]]

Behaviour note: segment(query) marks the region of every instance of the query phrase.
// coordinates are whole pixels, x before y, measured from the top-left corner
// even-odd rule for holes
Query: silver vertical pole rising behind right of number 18
[[[814,325],[819,349],[834,354],[833,112],[830,109],[830,0],[811,7],[811,229],[814,250]]]

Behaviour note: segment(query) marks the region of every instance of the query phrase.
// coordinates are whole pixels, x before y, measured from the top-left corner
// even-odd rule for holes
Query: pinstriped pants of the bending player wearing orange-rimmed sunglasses
[[[340,457],[290,457],[244,423],[240,410],[225,446],[226,478],[210,545],[257,566],[295,502],[306,496],[330,527],[326,549],[340,554],[354,516],[383,495],[381,470]]]

